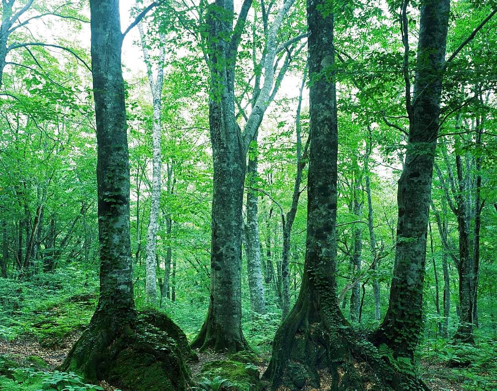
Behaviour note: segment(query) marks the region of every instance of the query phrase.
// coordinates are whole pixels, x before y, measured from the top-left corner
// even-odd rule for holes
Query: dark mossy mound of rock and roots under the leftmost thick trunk
[[[166,315],[140,313],[115,325],[106,318],[92,320],[61,369],[123,390],[186,390],[190,373],[184,356],[196,355]]]

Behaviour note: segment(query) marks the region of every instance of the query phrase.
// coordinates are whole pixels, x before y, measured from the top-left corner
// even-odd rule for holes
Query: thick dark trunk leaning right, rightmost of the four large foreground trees
[[[406,91],[410,126],[406,161],[397,192],[394,278],[387,313],[380,328],[372,335],[375,344],[387,344],[395,356],[413,357],[423,321],[426,235],[449,3],[449,0],[434,0],[421,4],[412,105],[411,92]],[[407,39],[407,22],[404,20],[402,24],[403,36]]]

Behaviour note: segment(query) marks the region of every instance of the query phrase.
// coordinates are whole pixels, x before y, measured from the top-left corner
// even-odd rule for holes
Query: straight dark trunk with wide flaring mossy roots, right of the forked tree
[[[300,295],[273,342],[264,377],[271,389],[304,387],[331,390],[391,385],[424,389],[413,377],[396,374],[370,343],[355,335],[336,301],[336,90],[333,15],[323,16],[326,0],[309,0],[310,165],[307,241]]]

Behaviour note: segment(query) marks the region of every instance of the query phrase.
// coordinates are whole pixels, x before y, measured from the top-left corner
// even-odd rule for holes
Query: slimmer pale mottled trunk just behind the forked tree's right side
[[[254,140],[256,142],[257,135]],[[253,141],[252,141],[253,142]],[[250,307],[253,312],[264,314],[266,304],[264,299],[264,285],[262,284],[262,268],[260,259],[260,239],[258,225],[257,191],[253,189],[256,186],[257,178],[257,150],[248,153],[248,190],[247,190],[247,225],[245,226],[247,253],[247,273],[248,273],[248,290],[250,293]]]

